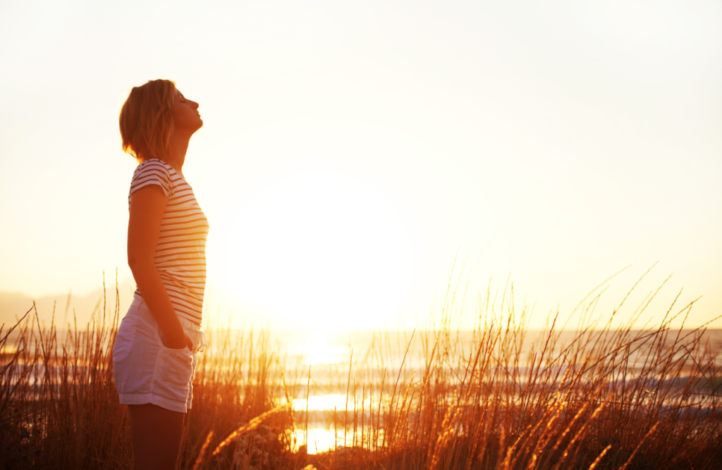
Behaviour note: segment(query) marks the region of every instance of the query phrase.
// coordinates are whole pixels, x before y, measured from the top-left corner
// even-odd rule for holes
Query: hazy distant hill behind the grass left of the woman
[[[135,282],[126,281],[118,285],[120,292],[121,318],[128,310],[133,300]],[[38,309],[40,325],[50,326],[53,319],[53,305],[55,305],[55,324],[58,329],[67,328],[68,324],[76,321],[79,328],[84,328],[90,322],[95,313],[96,318],[103,318],[103,290],[99,289],[90,294],[79,297],[68,294],[46,295],[33,299],[19,292],[0,292],[0,325],[4,323],[5,328],[17,323],[17,319],[25,315],[27,310],[32,308],[32,301]],[[105,292],[105,318],[110,319],[116,308],[116,287],[107,285]],[[31,312],[33,317],[35,312]],[[75,318],[73,318],[75,315]]]

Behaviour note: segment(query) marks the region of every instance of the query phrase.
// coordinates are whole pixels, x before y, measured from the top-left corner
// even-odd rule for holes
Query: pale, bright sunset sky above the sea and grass
[[[204,119],[183,173],[208,315],[413,328],[451,277],[468,327],[510,279],[539,327],[627,268],[608,318],[654,266],[619,321],[671,274],[642,323],[684,289],[700,326],[722,315],[720,24],[717,1],[0,0],[0,291],[132,278],[118,112],[168,78]]]

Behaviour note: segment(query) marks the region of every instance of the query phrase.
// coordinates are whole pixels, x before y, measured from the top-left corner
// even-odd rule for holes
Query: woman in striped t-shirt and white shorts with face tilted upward
[[[128,264],[137,290],[118,328],[113,367],[133,433],[134,469],[174,469],[193,399],[208,222],[183,177],[198,103],[170,80],[134,87],[120,115],[138,160],[129,193]]]

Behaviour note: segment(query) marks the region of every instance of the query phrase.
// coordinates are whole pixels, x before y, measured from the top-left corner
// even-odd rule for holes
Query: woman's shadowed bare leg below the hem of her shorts
[[[175,470],[186,413],[153,404],[128,405],[128,409],[133,432],[133,469]]]

